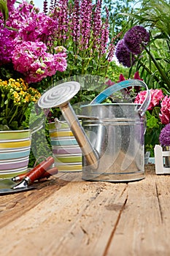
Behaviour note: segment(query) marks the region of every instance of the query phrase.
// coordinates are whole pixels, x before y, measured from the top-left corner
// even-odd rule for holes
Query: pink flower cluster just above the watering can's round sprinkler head
[[[66,49],[56,54],[47,53],[43,42],[23,42],[15,46],[12,62],[15,70],[26,77],[27,83],[36,83],[56,71],[66,70]]]

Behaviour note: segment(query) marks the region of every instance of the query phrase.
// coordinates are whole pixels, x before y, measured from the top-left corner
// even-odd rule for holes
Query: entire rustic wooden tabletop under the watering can
[[[170,176],[129,183],[60,174],[0,196],[0,255],[170,255]]]

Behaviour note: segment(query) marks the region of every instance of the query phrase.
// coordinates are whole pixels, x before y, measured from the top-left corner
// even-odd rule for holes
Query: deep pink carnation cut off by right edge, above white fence
[[[164,97],[161,102],[161,114],[159,114],[162,124],[170,123],[170,97]]]

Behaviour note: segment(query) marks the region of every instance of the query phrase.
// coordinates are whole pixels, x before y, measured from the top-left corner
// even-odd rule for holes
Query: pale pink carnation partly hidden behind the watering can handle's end
[[[144,102],[146,94],[147,91],[140,91],[139,94],[137,94],[134,102],[137,104],[142,104]],[[158,106],[160,104],[161,99],[163,99],[163,91],[161,89],[150,89],[150,94],[151,100],[147,110],[152,110],[155,106]]]

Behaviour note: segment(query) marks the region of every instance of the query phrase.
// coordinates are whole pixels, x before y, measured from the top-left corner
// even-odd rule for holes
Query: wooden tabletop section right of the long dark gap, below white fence
[[[106,255],[169,255],[169,183],[147,176],[128,184],[128,200]],[[165,197],[166,195],[166,197]]]

